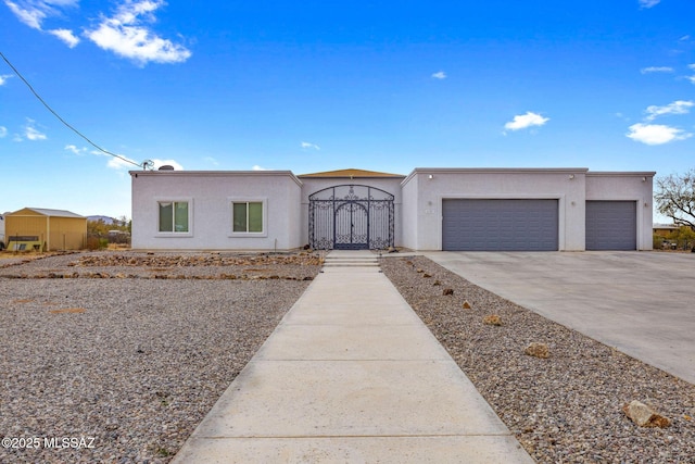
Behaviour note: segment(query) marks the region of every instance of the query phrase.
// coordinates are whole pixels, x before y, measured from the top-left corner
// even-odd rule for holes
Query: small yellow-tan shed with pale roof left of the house
[[[4,215],[8,250],[81,250],[87,217],[64,210],[24,208]]]

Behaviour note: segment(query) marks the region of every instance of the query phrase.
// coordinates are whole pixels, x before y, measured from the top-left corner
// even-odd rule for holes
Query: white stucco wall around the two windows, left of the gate
[[[289,250],[301,247],[301,183],[289,171],[131,172],[132,248]],[[159,233],[157,201],[189,202],[189,233]],[[232,234],[231,202],[263,201],[264,231]]]

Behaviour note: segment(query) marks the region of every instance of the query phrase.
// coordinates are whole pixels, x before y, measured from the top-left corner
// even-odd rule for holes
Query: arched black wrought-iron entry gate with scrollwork
[[[315,250],[393,247],[393,195],[363,185],[329,187],[308,197],[309,246]]]

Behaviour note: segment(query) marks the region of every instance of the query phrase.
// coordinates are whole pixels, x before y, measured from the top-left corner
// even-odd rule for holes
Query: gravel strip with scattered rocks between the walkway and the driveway
[[[382,269],[540,463],[694,463],[695,386],[477,287],[430,260]],[[453,294],[444,294],[452,289]],[[468,301],[471,309],[464,309]],[[483,324],[498,315],[501,326]],[[543,342],[549,358],[523,353]],[[668,417],[643,428],[632,400]]]

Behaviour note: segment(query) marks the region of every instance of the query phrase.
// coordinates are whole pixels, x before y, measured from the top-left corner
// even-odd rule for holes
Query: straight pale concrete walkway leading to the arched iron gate
[[[331,252],[174,463],[532,463],[380,273]]]

